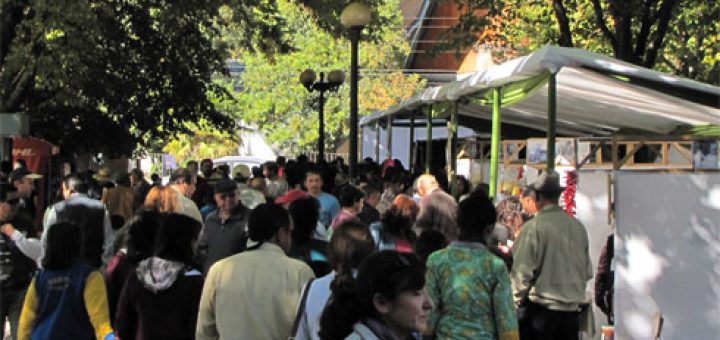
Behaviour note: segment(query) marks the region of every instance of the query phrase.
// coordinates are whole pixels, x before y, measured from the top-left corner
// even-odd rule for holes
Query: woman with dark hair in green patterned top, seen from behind
[[[486,246],[496,212],[476,191],[458,205],[458,240],[427,260],[435,339],[518,339],[510,276]]]

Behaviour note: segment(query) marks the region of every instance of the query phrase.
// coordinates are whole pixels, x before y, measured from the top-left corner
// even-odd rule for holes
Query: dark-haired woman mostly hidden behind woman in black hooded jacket
[[[159,212],[142,210],[118,233],[118,237],[124,240],[121,241],[120,250],[110,260],[105,272],[112,320],[115,319],[117,301],[125,281],[140,261],[152,256],[155,235],[161,225],[162,215]]]

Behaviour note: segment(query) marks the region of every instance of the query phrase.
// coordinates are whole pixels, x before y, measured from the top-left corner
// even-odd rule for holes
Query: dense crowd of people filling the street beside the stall
[[[205,159],[163,185],[101,168],[39,210],[39,175],[5,165],[3,323],[21,340],[577,339],[588,324],[588,236],[557,173],[494,205],[398,160],[346,170]]]

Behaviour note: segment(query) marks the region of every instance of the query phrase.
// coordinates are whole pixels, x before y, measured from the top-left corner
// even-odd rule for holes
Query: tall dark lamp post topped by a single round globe
[[[340,14],[340,22],[350,31],[350,150],[348,152],[348,177],[354,182],[358,154],[358,42],[360,32],[370,22],[370,9],[362,3],[351,3]]]

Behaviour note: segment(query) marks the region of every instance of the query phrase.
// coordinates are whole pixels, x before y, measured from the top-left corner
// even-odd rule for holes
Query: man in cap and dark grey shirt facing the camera
[[[200,252],[205,273],[213,263],[245,250],[250,209],[240,203],[237,183],[221,179],[215,183],[217,209],[205,218],[200,235]]]

